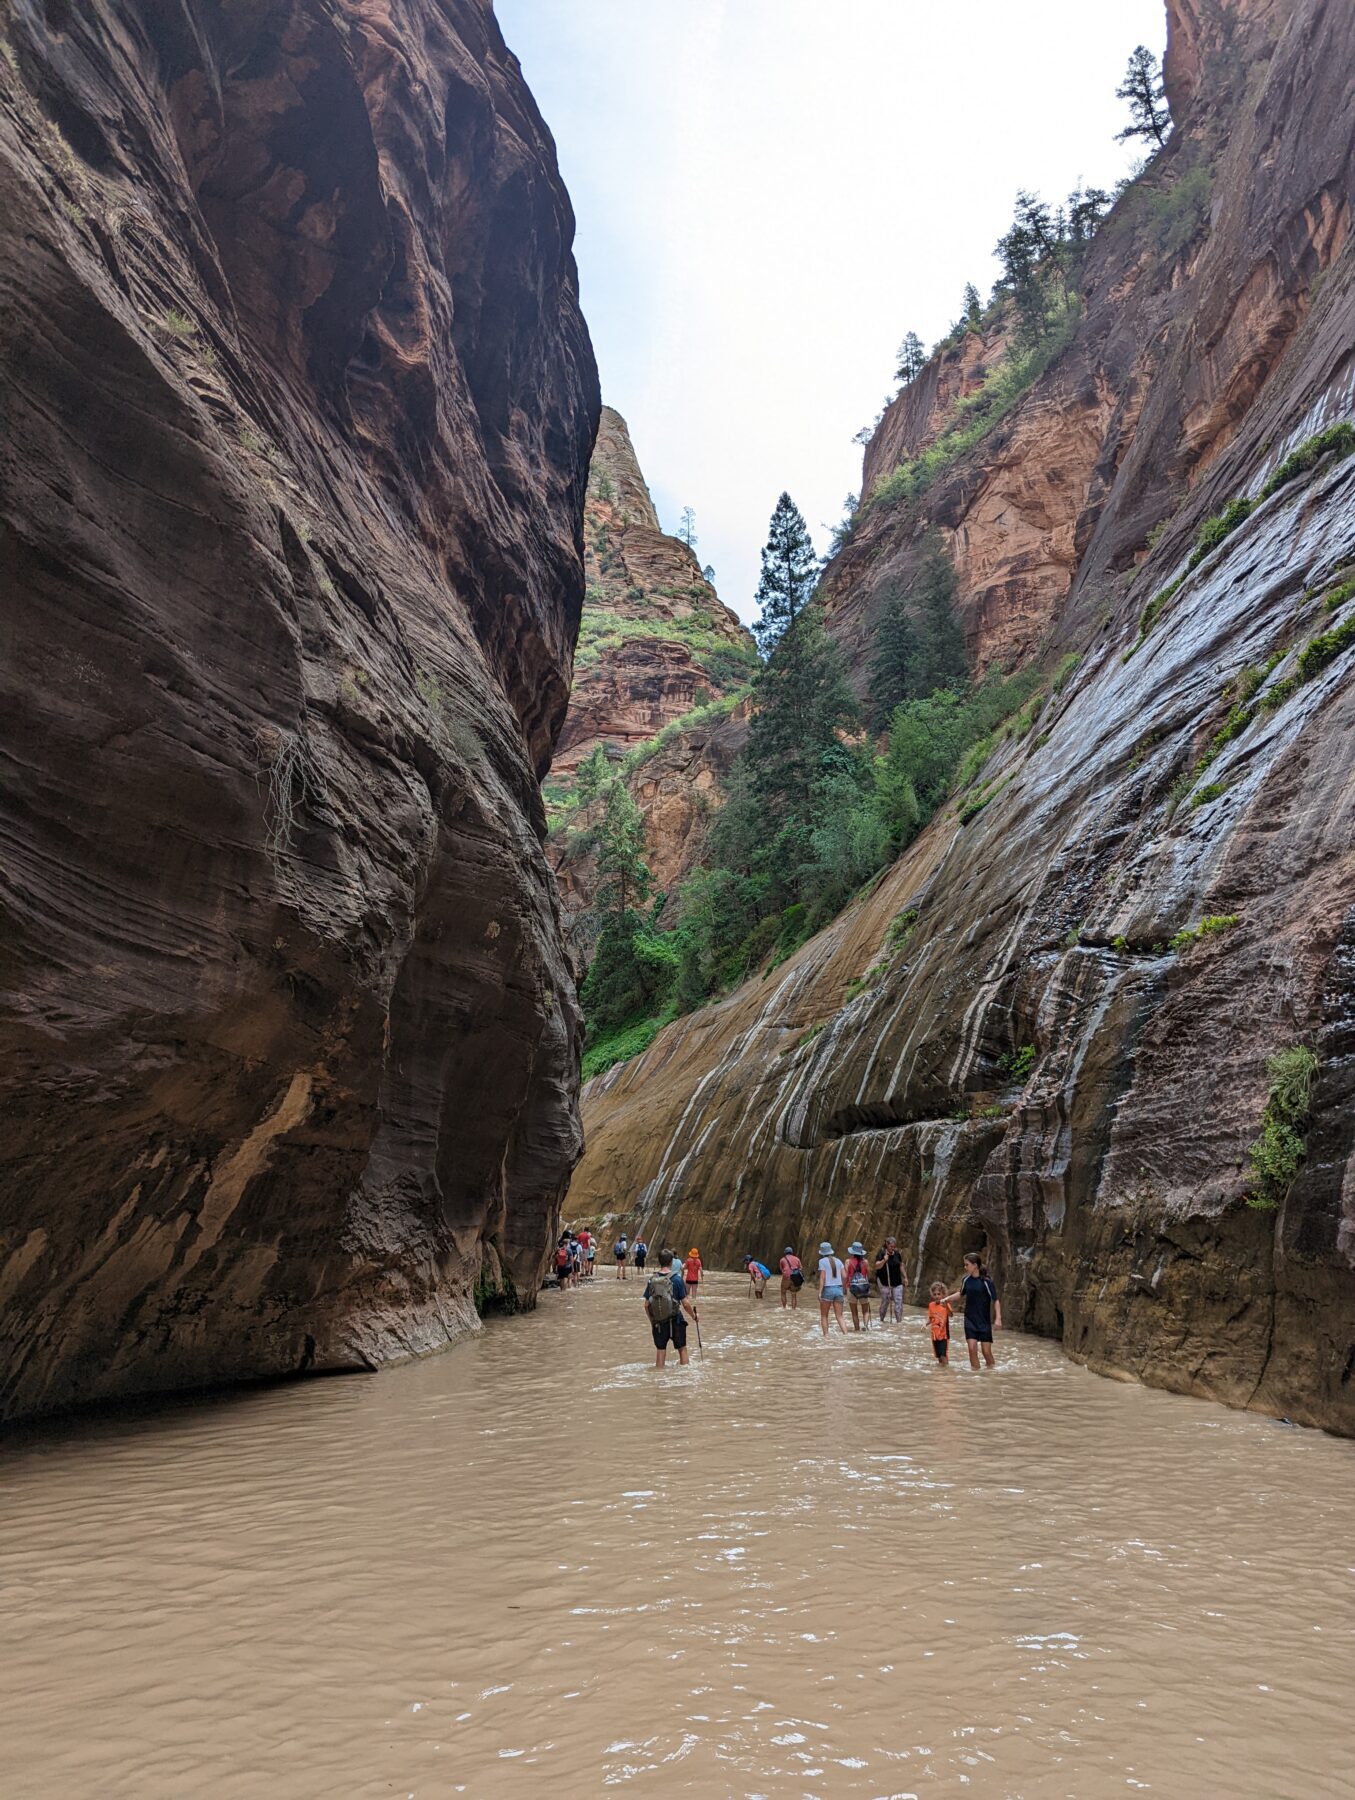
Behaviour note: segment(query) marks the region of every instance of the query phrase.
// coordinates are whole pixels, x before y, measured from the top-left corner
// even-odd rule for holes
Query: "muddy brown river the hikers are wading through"
[[[1355,1793],[1355,1445],[722,1276],[5,1445],[5,1800]],[[957,1345],[963,1363],[963,1343]]]

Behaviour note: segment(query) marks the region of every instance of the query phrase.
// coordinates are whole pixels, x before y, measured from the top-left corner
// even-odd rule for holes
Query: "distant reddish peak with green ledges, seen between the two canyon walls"
[[[617,765],[630,756],[624,779],[644,814],[655,887],[675,889],[743,742],[736,697],[756,664],[752,639],[695,553],[660,531],[626,421],[612,407],[603,407],[588,473],[585,542],[574,693],[547,790],[552,864],[572,918],[596,886],[588,832],[597,808],[570,805],[579,763],[597,747]]]

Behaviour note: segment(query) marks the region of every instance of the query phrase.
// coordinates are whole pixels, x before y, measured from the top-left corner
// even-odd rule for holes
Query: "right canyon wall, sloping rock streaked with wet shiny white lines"
[[[1197,58],[1148,191],[1213,160],[1209,229],[1164,254],[1130,193],[1065,353],[831,574],[851,652],[936,524],[979,657],[1081,664],[968,824],[947,806],[790,963],[585,1089],[574,1204],[630,1201],[707,1260],[893,1229],[914,1292],[979,1246],[1008,1321],[1094,1368],[1355,1433],[1355,601],[1324,605],[1355,457],[1186,567],[1202,518],[1355,412],[1355,13],[1186,13],[1227,58]],[[936,416],[903,396],[889,454]],[[1177,938],[1204,918],[1234,922]],[[1265,1058],[1296,1044],[1306,1159],[1260,1210]]]

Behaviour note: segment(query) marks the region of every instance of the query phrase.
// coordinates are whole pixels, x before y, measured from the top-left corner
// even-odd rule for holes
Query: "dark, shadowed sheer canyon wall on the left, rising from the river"
[[[596,371],[484,0],[9,0],[0,1413],[534,1292]]]

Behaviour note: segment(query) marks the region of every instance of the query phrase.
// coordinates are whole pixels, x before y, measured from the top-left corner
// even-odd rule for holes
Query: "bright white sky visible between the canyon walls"
[[[860,484],[853,432],[984,299],[1017,187],[1112,187],[1135,43],[1162,0],[497,0],[578,214],[603,398],[664,526],[696,511],[756,612],[788,488],[819,549]]]

